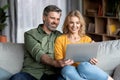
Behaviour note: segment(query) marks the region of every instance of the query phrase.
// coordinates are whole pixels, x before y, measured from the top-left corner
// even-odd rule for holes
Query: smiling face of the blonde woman
[[[70,17],[68,21],[69,32],[72,34],[76,34],[80,30],[80,28],[81,28],[81,24],[79,18],[76,16]]]

